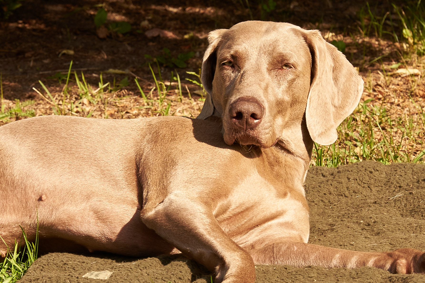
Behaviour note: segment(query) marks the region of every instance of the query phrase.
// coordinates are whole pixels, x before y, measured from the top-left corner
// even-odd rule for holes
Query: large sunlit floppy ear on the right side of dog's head
[[[306,31],[312,54],[306,122],[312,140],[329,145],[337,140],[337,126],[350,115],[363,93],[363,79],[343,53],[317,30]]]

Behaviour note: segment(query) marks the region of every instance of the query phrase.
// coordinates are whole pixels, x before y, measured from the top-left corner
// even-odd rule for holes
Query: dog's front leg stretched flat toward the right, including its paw
[[[276,243],[248,249],[255,264],[323,266],[326,268],[371,266],[391,273],[424,273],[425,253],[416,249],[392,252],[357,252],[305,243]]]

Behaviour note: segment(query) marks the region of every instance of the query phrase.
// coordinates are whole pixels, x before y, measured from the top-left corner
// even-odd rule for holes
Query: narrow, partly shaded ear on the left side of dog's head
[[[204,59],[202,61],[201,81],[207,91],[204,106],[201,114],[196,119],[205,120],[214,114],[214,104],[212,103],[212,80],[214,79],[215,65],[217,64],[217,49],[221,36],[227,29],[217,29],[208,34],[208,45],[205,50]]]

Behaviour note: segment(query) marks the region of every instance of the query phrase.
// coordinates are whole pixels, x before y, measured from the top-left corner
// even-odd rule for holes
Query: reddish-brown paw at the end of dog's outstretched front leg
[[[425,252],[417,249],[396,249],[388,252],[387,270],[391,273],[425,274]]]

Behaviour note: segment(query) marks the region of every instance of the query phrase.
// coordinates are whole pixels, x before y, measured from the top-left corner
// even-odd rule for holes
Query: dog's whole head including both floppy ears
[[[201,77],[208,95],[198,118],[219,116],[229,145],[268,148],[300,135],[303,123],[312,140],[331,144],[360,100],[363,80],[317,30],[249,21],[208,40]]]

